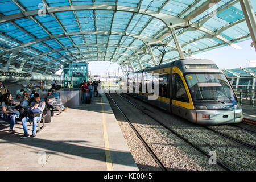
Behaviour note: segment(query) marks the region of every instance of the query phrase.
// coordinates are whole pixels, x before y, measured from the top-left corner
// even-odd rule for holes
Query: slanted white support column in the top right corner
[[[239,0],[256,51],[256,18],[250,0]]]

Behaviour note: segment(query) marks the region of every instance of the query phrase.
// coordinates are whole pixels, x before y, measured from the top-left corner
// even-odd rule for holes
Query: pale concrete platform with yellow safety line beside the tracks
[[[51,120],[36,138],[20,139],[22,123],[14,135],[0,125],[0,170],[138,170],[105,94]]]

